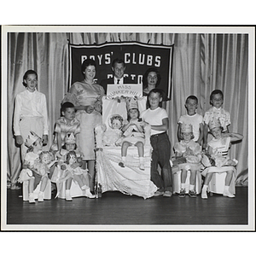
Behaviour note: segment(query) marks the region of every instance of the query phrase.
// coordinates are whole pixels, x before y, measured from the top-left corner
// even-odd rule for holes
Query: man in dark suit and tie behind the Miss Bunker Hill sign
[[[125,61],[121,59],[114,59],[112,62],[113,78],[103,79],[100,83],[107,93],[108,84],[134,84],[134,81],[124,77],[125,74]]]

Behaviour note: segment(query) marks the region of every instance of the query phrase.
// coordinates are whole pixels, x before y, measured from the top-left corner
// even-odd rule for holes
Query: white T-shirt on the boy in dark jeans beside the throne
[[[166,109],[164,108],[155,108],[154,110],[148,108],[143,111],[141,114],[141,117],[145,122],[147,122],[149,125],[162,125],[163,119],[168,118],[168,114],[166,112]],[[160,134],[165,131],[156,131],[153,128],[151,128],[151,135]]]

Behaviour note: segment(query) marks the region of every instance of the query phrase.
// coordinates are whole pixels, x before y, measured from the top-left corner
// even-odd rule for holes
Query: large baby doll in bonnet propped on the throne
[[[103,127],[105,130],[103,139],[103,146],[119,146],[121,144],[122,127],[124,119],[119,114],[113,114],[108,119],[108,125],[111,130],[106,131],[106,126]]]

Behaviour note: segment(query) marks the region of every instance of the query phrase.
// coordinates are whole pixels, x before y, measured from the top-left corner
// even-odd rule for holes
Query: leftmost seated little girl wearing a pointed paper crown
[[[25,160],[22,164],[23,169],[20,172],[18,182],[23,183],[25,181],[28,181],[28,201],[29,203],[35,203],[33,190],[36,189],[38,183],[40,183],[41,181],[40,191],[38,194],[38,201],[44,201],[44,190],[46,188],[49,178],[47,176],[47,173],[44,172],[45,169],[43,170],[43,168],[36,166],[36,163],[40,162],[39,155],[42,153],[43,148],[42,139],[38,137],[38,135],[35,132],[31,131],[29,136],[26,138],[25,145],[28,148],[28,150],[25,156]]]

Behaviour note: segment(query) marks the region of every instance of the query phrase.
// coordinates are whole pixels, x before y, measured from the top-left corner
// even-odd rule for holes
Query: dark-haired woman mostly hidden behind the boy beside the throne
[[[150,90],[158,87],[158,85],[160,84],[160,80],[161,77],[159,71],[154,67],[148,68],[146,73],[144,73],[143,75],[143,96],[148,96]],[[160,107],[166,108],[166,101],[168,101],[169,99],[167,98],[166,92],[164,90],[161,90],[161,92],[163,99]],[[149,107],[149,105],[147,107]]]

